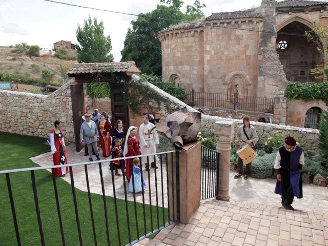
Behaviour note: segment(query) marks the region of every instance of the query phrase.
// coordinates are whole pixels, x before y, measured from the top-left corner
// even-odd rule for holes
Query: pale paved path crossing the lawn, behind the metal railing
[[[81,152],[75,151],[75,146],[70,145],[67,147],[67,159],[70,164],[72,163],[81,163],[81,162],[87,162],[89,161],[88,156],[84,156],[84,150]],[[113,185],[112,185],[112,174],[109,170],[109,158],[104,158],[101,154],[101,151],[99,153],[100,159],[104,159],[103,162],[101,162],[101,170],[103,172],[103,178],[104,178],[104,187],[105,187],[105,194],[107,196],[112,196],[114,194]],[[159,156],[160,157],[160,156]],[[52,166],[52,154],[51,152],[44,153],[35,157],[30,158],[33,162],[37,163],[39,166]],[[95,156],[93,158],[95,160]],[[164,161],[164,157],[162,157],[162,160]],[[164,163],[163,163],[164,164]],[[145,191],[145,203],[150,204],[149,199],[149,188],[151,189],[151,201],[152,204],[156,204],[156,181],[157,181],[157,193],[158,193],[158,202],[159,206],[161,207],[162,204],[162,198],[164,200],[164,207],[167,207],[167,172],[165,165],[160,166],[160,163],[157,163],[157,166],[159,167],[156,169],[156,178],[155,178],[155,169],[151,168],[150,172],[148,173],[145,169],[142,171],[142,175],[146,181],[146,191]],[[91,165],[88,165],[88,177],[89,177],[89,184],[90,184],[90,192],[95,194],[103,194],[101,190],[101,182],[100,182],[100,173],[99,173],[99,165],[98,163],[94,163]],[[73,178],[74,178],[74,185],[75,188],[81,190],[81,191],[88,191],[87,190],[87,182],[86,182],[86,175],[85,175],[85,169],[84,166],[77,166],[73,167]],[[51,172],[51,170],[48,170]],[[161,171],[162,171],[162,178],[161,178]],[[120,172],[120,170],[119,170]],[[121,173],[121,172],[120,172]],[[148,179],[149,174],[149,179]],[[63,178],[67,182],[71,183],[70,175],[66,175],[65,177],[58,177]],[[150,185],[149,185],[150,180]],[[163,192],[161,191],[161,180],[163,180]],[[125,190],[123,185],[123,176],[114,176],[114,184],[115,184],[115,194],[116,198],[119,199],[125,199]],[[128,185],[128,183],[127,183]],[[130,201],[133,201],[133,193],[129,192],[129,187],[127,187],[127,198]],[[136,201],[142,202],[142,194],[136,193]]]

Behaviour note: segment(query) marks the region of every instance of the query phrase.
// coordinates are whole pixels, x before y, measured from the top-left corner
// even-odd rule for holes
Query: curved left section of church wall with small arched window
[[[203,31],[174,30],[158,35],[158,38],[162,44],[163,79],[174,84],[172,75],[175,74],[181,87],[188,91],[203,91]]]

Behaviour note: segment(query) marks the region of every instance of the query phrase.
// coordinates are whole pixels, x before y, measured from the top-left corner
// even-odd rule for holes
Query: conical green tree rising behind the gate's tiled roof
[[[77,61],[79,63],[108,63],[113,61],[111,37],[104,35],[103,21],[97,22],[89,16],[84,20],[84,27],[80,25],[76,29]]]

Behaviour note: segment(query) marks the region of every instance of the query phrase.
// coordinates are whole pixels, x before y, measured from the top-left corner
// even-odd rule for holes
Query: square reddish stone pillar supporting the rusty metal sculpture
[[[200,204],[200,142],[193,142],[183,146],[179,154],[179,200],[180,200],[180,222],[188,223],[191,216],[198,209]],[[173,170],[172,170],[173,157]],[[172,172],[173,171],[173,172]],[[177,218],[177,203],[176,203],[176,153],[168,155],[168,186],[170,200],[170,220]],[[173,180],[172,180],[173,177]],[[172,187],[174,196],[172,195]],[[173,198],[174,217],[173,217]]]

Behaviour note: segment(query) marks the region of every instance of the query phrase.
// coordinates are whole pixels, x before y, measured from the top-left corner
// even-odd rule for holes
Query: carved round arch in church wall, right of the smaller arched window
[[[251,80],[247,73],[243,71],[235,71],[227,75],[224,80],[224,85],[227,85],[228,95],[234,95],[236,92],[239,96],[247,96]]]

